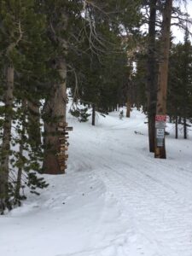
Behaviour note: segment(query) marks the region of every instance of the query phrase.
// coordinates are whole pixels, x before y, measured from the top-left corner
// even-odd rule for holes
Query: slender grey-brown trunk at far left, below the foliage
[[[3,124],[3,142],[0,162],[0,212],[9,208],[9,150],[11,137],[11,122],[13,118],[14,101],[14,67],[7,69],[7,84],[5,91],[5,117]]]

